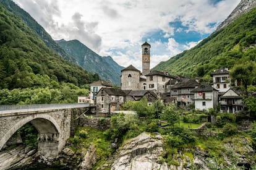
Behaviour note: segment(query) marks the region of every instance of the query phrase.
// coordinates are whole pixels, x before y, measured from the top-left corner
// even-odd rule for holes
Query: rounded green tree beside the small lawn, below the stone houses
[[[163,109],[163,113],[160,114],[161,119],[166,120],[171,126],[174,127],[176,122],[179,122],[179,113],[176,110],[176,106],[171,104]]]

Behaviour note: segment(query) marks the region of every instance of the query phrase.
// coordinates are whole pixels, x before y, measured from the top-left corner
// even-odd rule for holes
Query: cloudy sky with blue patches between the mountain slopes
[[[223,22],[240,0],[13,0],[54,40],[79,40],[119,65],[142,69],[192,48]]]

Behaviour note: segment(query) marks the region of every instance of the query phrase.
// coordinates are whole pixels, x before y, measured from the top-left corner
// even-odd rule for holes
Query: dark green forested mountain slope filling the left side
[[[84,85],[95,75],[48,48],[23,20],[0,3],[0,89]]]

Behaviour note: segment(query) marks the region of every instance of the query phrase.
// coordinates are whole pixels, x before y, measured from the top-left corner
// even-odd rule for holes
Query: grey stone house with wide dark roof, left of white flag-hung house
[[[171,96],[176,98],[177,106],[189,109],[189,105],[194,103],[194,93],[191,91],[198,86],[199,83],[191,79],[182,79],[181,82],[171,86]]]

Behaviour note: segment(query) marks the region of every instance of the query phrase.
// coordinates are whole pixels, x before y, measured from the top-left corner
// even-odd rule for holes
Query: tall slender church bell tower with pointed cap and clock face
[[[142,45],[142,75],[150,73],[150,47],[147,41]]]

